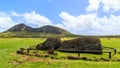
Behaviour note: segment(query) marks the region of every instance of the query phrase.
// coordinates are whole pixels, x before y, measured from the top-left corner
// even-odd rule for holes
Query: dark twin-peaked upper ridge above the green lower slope
[[[52,34],[70,34],[70,32],[51,25],[46,25],[40,28],[32,28],[23,23],[17,24],[5,32],[39,32],[39,33],[52,33]]]

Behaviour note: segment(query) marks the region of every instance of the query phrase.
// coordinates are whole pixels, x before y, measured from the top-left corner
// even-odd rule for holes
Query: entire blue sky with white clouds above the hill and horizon
[[[1,0],[0,32],[25,23],[79,35],[120,35],[120,0]]]

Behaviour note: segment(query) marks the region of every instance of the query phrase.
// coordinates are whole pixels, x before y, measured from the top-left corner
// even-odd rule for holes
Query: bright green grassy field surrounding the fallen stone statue
[[[62,38],[62,40],[68,39],[71,38]],[[118,53],[109,62],[51,59],[16,54],[16,50],[21,47],[28,48],[43,41],[45,41],[44,38],[0,38],[0,68],[120,68],[120,61],[116,61],[120,60],[120,54]],[[114,47],[117,49],[117,52],[120,52],[120,38],[101,38],[101,41],[103,46]],[[59,56],[77,56],[77,54],[73,53],[62,53],[58,51],[57,53]],[[107,54],[82,54],[81,56],[108,58]]]

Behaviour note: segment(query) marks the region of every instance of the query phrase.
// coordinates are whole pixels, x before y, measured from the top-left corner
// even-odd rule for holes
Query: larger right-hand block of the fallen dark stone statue
[[[95,50],[102,53],[102,46],[99,38],[81,37],[73,40],[64,41],[59,50]]]

